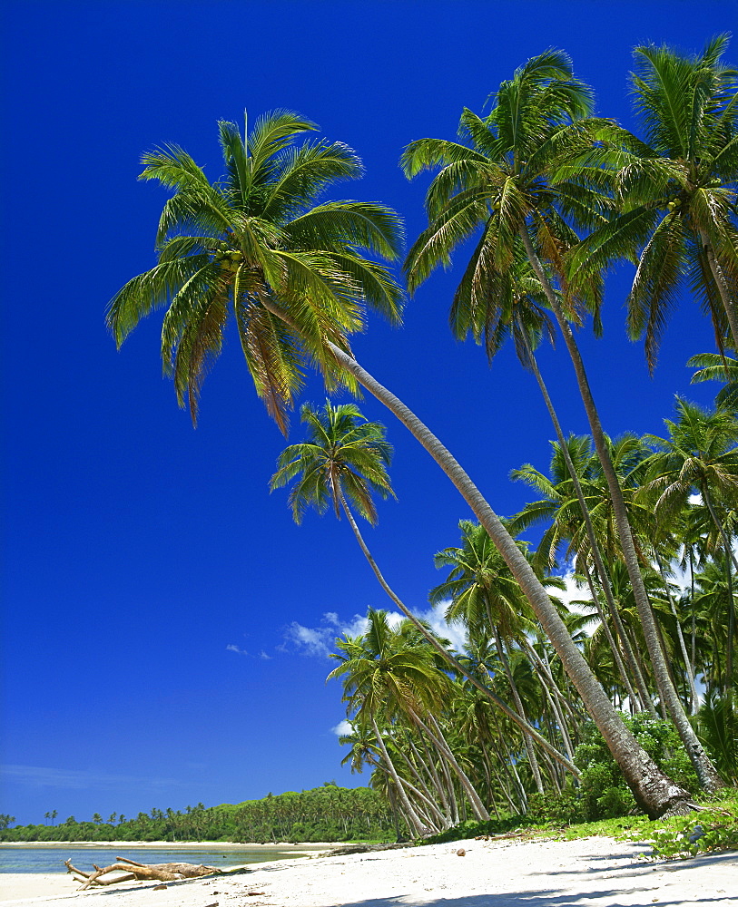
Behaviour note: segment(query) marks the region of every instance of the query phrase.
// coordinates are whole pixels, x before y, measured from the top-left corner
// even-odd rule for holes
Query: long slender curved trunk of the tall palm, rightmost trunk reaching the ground
[[[623,551],[625,566],[627,568],[628,577],[630,578],[631,587],[633,589],[635,604],[638,609],[638,617],[640,619],[644,632],[645,645],[648,649],[648,654],[651,658],[651,663],[654,668],[654,679],[656,681],[656,687],[658,688],[659,695],[662,698],[662,701],[664,702],[664,705],[669,712],[669,716],[674,722],[674,726],[676,727],[679,736],[682,739],[684,749],[686,750],[687,755],[689,756],[690,761],[694,766],[694,771],[697,774],[700,785],[706,791],[718,790],[724,786],[723,780],[715,771],[715,767],[713,766],[707,754],[704,752],[702,744],[697,739],[697,735],[694,733],[694,728],[690,724],[689,718],[684,712],[682,702],[679,699],[676,690],[674,689],[674,684],[672,683],[671,678],[669,677],[668,668],[666,666],[666,659],[664,658],[664,651],[661,648],[656,631],[654,614],[651,610],[651,604],[648,600],[643,577],[638,565],[638,557],[635,551],[633,532],[631,531],[630,522],[628,520],[627,511],[625,509],[625,498],[623,497],[620,483],[618,483],[617,481],[615,468],[612,461],[610,460],[609,453],[607,452],[605,433],[602,429],[602,424],[600,424],[599,414],[597,413],[595,400],[592,396],[592,391],[590,389],[589,381],[586,376],[584,362],[582,361],[579,347],[576,345],[574,332],[572,331],[568,321],[566,321],[564,311],[559,304],[558,299],[556,298],[554,288],[551,286],[551,283],[546,276],[546,272],[544,271],[543,266],[541,265],[541,262],[536,255],[535,249],[533,249],[533,243],[531,242],[531,239],[528,236],[528,232],[525,228],[520,230],[520,238],[523,240],[526,246],[530,264],[536,271],[536,276],[546,292],[546,298],[548,299],[549,305],[554,312],[556,323],[558,324],[559,330],[564,337],[566,349],[568,350],[569,356],[571,356],[572,364],[574,365],[576,382],[579,386],[579,393],[582,396],[582,402],[585,405],[587,420],[592,432],[592,439],[595,443],[595,451],[600,463],[602,464],[605,481],[610,493],[610,500],[613,503],[615,524],[617,526],[617,532],[620,538],[620,548]]]

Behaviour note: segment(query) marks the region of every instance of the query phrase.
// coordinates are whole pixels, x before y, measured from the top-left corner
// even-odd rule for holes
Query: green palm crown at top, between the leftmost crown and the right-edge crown
[[[412,141],[401,159],[408,177],[440,168],[426,198],[428,229],[405,264],[411,291],[438,265],[448,267],[453,249],[481,229],[454,299],[455,312],[468,310],[470,323],[487,309],[501,281],[514,277],[522,232],[535,237],[539,255],[562,274],[562,256],[578,241],[572,224],[591,227],[609,210],[591,179],[574,171],[558,179],[603,124],[588,116],[591,92],[574,77],[566,54],[551,50],[533,57],[501,83],[494,101],[485,119],[464,109],[461,141]],[[582,296],[593,291],[598,297],[596,281]]]

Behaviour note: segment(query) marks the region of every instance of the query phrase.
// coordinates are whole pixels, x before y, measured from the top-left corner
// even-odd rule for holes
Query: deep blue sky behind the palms
[[[276,107],[355,148],[366,176],[335,197],[379,200],[423,228],[427,180],[408,183],[412,139],[452,137],[463,106],[549,46],[571,54],[597,109],[635,128],[635,44],[699,50],[734,2],[5,3],[3,11],[4,512],[0,810],[21,822],[238,802],[335,779],[326,647],[385,607],[345,522],[291,522],[267,483],[284,441],[236,344],[204,385],[196,431],[162,380],[160,322],[116,353],[105,305],[153,265],[163,190],[139,157],[172,141],[220,175],[216,122]],[[729,57],[736,59],[733,43]],[[448,331],[463,256],[354,344],[364,366],[448,444],[501,514],[545,468],[553,431],[511,351],[490,369]],[[713,349],[684,297],[654,378],[625,338],[632,271],[610,279],[605,336],[581,342],[610,434],[659,433],[674,392],[697,402],[688,356]],[[585,432],[563,350],[541,365],[567,431]],[[320,403],[311,380],[304,399]],[[397,502],[367,538],[389,582],[428,608],[435,551],[469,514],[427,454],[388,425]],[[300,438],[295,420],[290,441]]]

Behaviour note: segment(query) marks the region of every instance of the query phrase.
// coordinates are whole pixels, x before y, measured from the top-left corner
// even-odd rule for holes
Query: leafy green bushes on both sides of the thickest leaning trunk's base
[[[689,758],[670,721],[642,712],[625,718],[625,725],[664,774],[688,791],[694,793],[699,789]],[[614,818],[637,809],[625,778],[593,723],[585,726],[583,742],[576,747],[574,761],[582,772],[580,820]]]

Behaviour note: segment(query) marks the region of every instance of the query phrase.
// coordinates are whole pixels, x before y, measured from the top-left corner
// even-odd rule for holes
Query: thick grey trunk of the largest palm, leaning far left
[[[264,299],[262,302],[272,314],[280,317],[291,327],[296,327],[287,313],[276,306],[271,299]],[[326,346],[339,366],[345,368],[349,375],[353,375],[359,384],[369,391],[369,394],[387,406],[418,443],[425,447],[446,473],[448,479],[454,483],[477,520],[485,527],[497,551],[502,555],[507,567],[523,590],[546,636],[556,649],[558,657],[561,658],[566,673],[604,737],[607,748],[612,753],[617,765],[620,766],[625,781],[633,792],[635,802],[652,818],[659,818],[667,813],[684,814],[691,810],[689,792],[683,787],[675,785],[670,778],[664,775],[625,727],[622,718],[607,698],[605,690],[590,670],[582,653],[576,648],[574,640],[569,636],[566,624],[559,617],[548,593],[536,577],[533,568],[526,561],[525,555],[518,549],[515,540],[500,522],[497,513],[492,510],[458,461],[438,441],[435,434],[430,432],[428,426],[423,424],[418,416],[399,400],[399,397],[380,385],[379,381],[362,368],[353,356],[330,341],[326,341]],[[545,738],[542,737],[542,739]],[[550,746],[547,741],[546,746]]]

